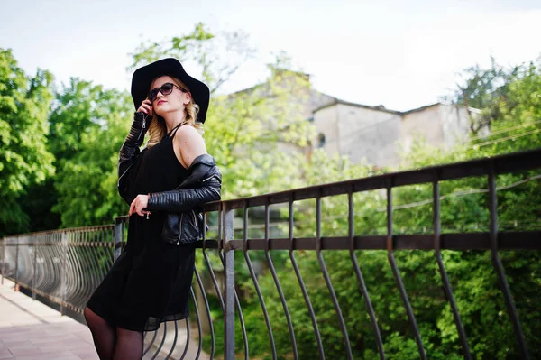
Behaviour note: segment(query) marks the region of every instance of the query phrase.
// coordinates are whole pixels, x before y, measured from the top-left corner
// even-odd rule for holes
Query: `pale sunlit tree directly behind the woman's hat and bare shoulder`
[[[222,198],[299,185],[290,182],[287,175],[302,159],[279,154],[279,147],[287,144],[302,148],[314,135],[312,126],[299,112],[303,102],[308,101],[309,83],[298,72],[283,69],[288,66],[284,54],[269,64],[270,76],[265,83],[227,96],[217,94],[217,89],[252,53],[242,32],[215,34],[197,23],[187,35],[142,43],[132,54],[131,69],[176,57],[198,70],[200,76],[197,71],[190,70],[190,74],[211,88],[205,140],[208,152],[224,170]]]

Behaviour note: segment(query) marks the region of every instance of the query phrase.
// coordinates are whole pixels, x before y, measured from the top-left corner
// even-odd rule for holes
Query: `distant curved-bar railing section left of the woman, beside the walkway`
[[[113,225],[5,236],[2,275],[67,311],[82,314],[113,264]],[[3,279],[4,280],[4,279]]]

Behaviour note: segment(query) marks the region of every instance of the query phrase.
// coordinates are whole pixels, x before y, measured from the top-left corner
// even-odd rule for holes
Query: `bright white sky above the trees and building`
[[[0,48],[28,74],[39,67],[105,88],[130,87],[128,53],[142,40],[186,34],[197,22],[242,30],[258,50],[224,92],[263,81],[271,53],[286,51],[317,90],[395,110],[436,102],[457,73],[488,66],[491,55],[503,65],[541,55],[537,0],[2,0],[0,9]]]

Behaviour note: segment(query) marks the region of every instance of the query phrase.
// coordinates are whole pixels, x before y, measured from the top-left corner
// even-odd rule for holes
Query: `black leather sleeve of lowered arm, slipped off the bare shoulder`
[[[170,191],[153,192],[145,210],[185,212],[197,208],[207,202],[217,201],[221,198],[222,172],[212,162],[207,162],[210,155],[198,156],[189,167],[188,179],[179,185],[179,188]],[[187,188],[189,186],[189,188]],[[186,188],[186,189],[182,189]]]

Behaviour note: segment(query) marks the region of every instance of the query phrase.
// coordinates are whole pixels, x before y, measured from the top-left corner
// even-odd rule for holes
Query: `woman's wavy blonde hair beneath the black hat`
[[[173,82],[175,85],[177,85],[179,88],[183,88],[186,91],[188,91],[190,94],[188,87],[184,85],[182,81],[180,81],[178,78],[173,78]],[[155,80],[155,78],[154,78]],[[154,80],[151,82],[151,88],[152,84],[154,83]],[[151,90],[149,88],[149,91]],[[205,134],[205,130],[203,129],[203,123],[197,121],[197,113],[199,112],[199,106],[194,102],[194,98],[190,97],[188,104],[184,108],[184,120],[182,120],[182,125],[189,124],[194,126],[197,129],[197,132],[201,135]],[[182,126],[180,125],[180,126]],[[165,137],[167,134],[167,126],[165,125],[165,120],[160,115],[156,114],[155,112],[152,112],[152,120],[151,125],[149,125],[149,142],[147,143],[146,147],[151,148],[152,146],[156,145],[157,143],[160,143],[161,140]]]

